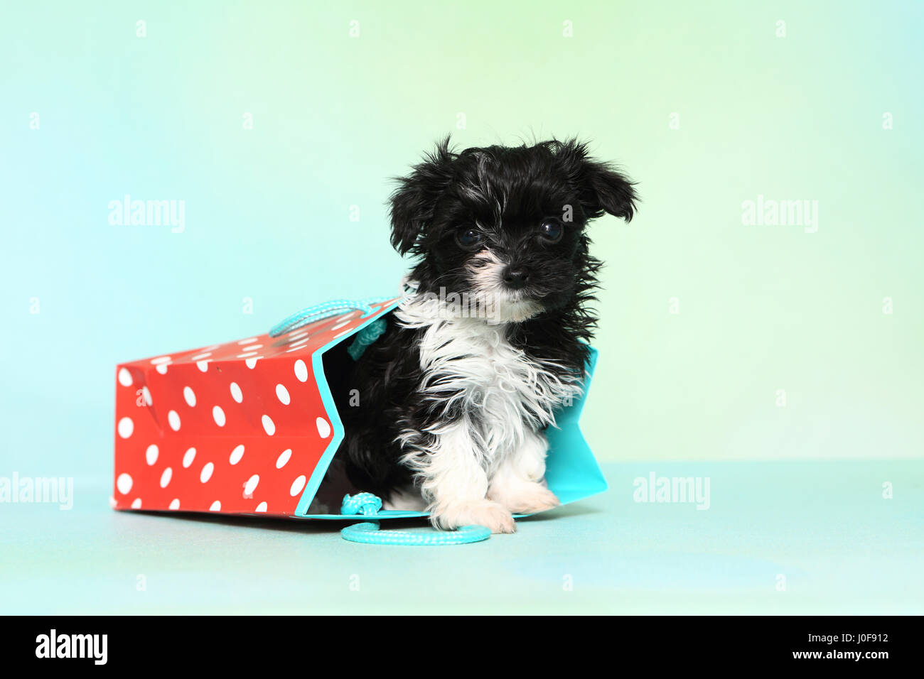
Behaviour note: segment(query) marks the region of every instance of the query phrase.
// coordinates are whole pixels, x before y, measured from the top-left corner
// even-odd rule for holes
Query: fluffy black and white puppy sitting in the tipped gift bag
[[[635,211],[632,183],[577,140],[437,145],[392,196],[410,292],[347,379],[338,457],[386,507],[435,527],[515,530],[549,509],[544,430],[580,394],[601,262],[585,226]],[[415,500],[419,506],[415,505]]]

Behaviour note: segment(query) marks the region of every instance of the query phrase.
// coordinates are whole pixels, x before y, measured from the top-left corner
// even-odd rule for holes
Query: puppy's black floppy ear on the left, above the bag
[[[402,255],[414,248],[433,217],[436,203],[452,181],[456,154],[449,151],[449,137],[436,144],[413,172],[396,177],[398,188],[392,194],[392,247]]]

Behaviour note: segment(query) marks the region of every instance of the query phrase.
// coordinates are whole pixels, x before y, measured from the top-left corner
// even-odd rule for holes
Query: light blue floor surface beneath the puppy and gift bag
[[[0,506],[0,612],[924,613],[922,462],[604,471],[610,491],[515,535],[431,548],[349,543],[340,522],[117,513],[108,479],[77,479],[70,511]],[[709,508],[635,502],[650,472],[708,477]]]

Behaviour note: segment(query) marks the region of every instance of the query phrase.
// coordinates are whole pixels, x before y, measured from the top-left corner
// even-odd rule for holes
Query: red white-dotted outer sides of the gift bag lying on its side
[[[360,315],[116,366],[116,509],[295,515],[337,421],[318,352]]]

